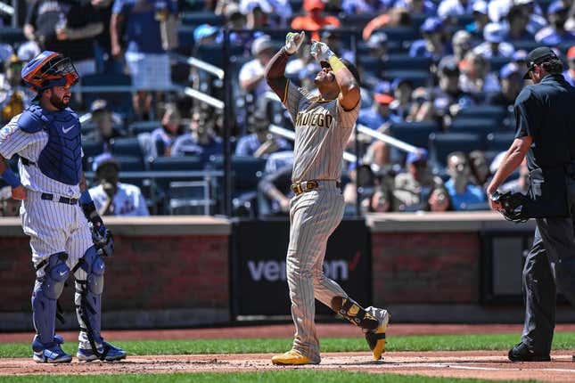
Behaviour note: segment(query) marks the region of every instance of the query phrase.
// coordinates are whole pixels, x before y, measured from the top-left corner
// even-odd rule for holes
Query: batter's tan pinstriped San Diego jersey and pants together
[[[290,244],[286,273],[296,332],[293,349],[319,362],[315,299],[330,306],[333,297],[348,297],[324,275],[327,240],[340,224],[345,203],[336,180],[341,176],[343,149],[356,123],[360,103],[343,110],[337,100],[288,84],[284,105],[292,115],[296,137],[292,179],[319,180],[319,187],[290,200]]]

